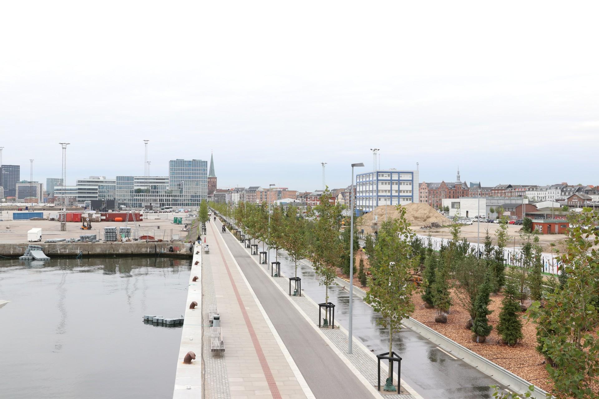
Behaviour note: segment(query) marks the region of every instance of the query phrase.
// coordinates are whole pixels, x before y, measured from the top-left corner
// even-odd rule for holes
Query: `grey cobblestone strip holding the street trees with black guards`
[[[246,252],[250,255],[249,249],[246,249]],[[250,255],[258,260],[258,256]],[[271,260],[272,261],[272,260]],[[270,267],[268,264],[260,264],[260,267],[268,272],[270,276]],[[285,293],[289,292],[289,278],[283,276],[282,278],[273,278],[274,282],[278,284]],[[292,287],[293,288],[293,287]],[[316,322],[318,321],[318,304],[316,304],[313,300],[308,299],[305,294],[302,294],[301,297],[291,297],[291,299],[300,307],[302,312],[304,312],[308,318]],[[325,336],[331,340],[332,343],[337,346],[337,348],[345,355],[345,357],[353,364],[354,367],[360,371],[360,373],[370,382],[373,386],[377,385],[377,363],[373,360],[370,355],[364,352],[364,348],[356,345],[352,354],[347,353],[347,333],[340,329],[331,330],[330,328],[322,328],[321,331],[325,334]],[[354,341],[355,342],[355,341]],[[385,383],[384,375],[382,373],[381,376],[381,385]],[[411,394],[392,394],[392,395],[383,395],[381,397],[385,399],[416,399]]]

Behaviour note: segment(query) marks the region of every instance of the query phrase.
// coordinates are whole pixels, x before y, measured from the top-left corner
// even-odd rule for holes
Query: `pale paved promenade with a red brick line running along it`
[[[214,223],[208,224],[207,233],[210,254],[204,255],[204,261],[210,263],[213,301],[220,314],[225,352],[221,355],[204,350],[204,356],[208,356],[204,358],[205,364],[212,357],[220,358],[224,364],[224,370],[217,364],[211,365],[213,375],[207,375],[205,380],[210,381],[212,387],[205,384],[204,389],[213,389],[213,392],[207,391],[205,397],[313,398]],[[203,324],[207,323],[205,318]],[[205,329],[208,328],[205,326]],[[204,340],[203,345],[206,349],[210,341]],[[226,380],[218,381],[219,378]]]

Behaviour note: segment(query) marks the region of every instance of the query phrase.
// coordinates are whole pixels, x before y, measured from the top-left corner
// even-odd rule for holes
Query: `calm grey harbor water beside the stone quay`
[[[0,398],[170,398],[190,260],[0,260]]]

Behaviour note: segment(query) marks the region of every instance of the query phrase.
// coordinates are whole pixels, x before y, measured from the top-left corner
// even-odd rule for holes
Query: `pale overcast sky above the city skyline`
[[[4,2],[0,147],[29,178],[599,184],[597,2]]]

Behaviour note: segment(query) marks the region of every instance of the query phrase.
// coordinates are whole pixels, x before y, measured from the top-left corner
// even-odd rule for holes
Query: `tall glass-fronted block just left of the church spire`
[[[208,162],[200,159],[176,159],[168,162],[170,190],[177,191],[187,206],[208,199]]]

